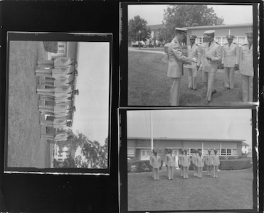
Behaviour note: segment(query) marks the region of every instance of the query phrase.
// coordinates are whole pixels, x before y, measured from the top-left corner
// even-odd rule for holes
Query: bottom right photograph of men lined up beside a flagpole
[[[121,169],[127,212],[256,210],[255,110],[152,109],[121,115],[127,118],[127,163]]]

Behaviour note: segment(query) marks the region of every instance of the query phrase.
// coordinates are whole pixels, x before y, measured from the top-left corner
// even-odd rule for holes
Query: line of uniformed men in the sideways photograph
[[[53,60],[38,60],[36,76],[38,77],[37,94],[39,96],[38,109],[41,112],[40,124],[46,131],[41,138],[48,143],[67,141],[73,137],[72,126],[73,99],[79,94],[74,90],[74,80],[78,75],[77,63],[68,57]],[[47,133],[47,127],[54,132]]]

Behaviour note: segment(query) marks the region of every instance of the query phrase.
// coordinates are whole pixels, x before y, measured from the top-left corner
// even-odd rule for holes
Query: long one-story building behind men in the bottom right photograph
[[[208,149],[218,151],[219,155],[238,156],[242,154],[243,139],[216,139],[216,138],[153,138],[153,146],[158,150],[164,160],[168,149],[172,149],[179,156],[182,149],[191,155],[197,149],[202,155],[208,153]],[[151,155],[151,138],[129,137],[127,138],[127,158],[137,160],[149,160]]]

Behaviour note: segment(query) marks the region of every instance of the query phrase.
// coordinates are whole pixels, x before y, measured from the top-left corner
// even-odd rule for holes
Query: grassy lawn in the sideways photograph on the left
[[[8,153],[9,167],[50,167],[50,146],[41,141],[37,60],[46,59],[42,42],[11,41],[9,53]]]

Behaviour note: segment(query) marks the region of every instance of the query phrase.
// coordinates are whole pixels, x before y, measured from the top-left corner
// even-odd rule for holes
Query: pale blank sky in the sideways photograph
[[[108,136],[110,43],[78,43],[78,77],[73,132],[105,144]]]

